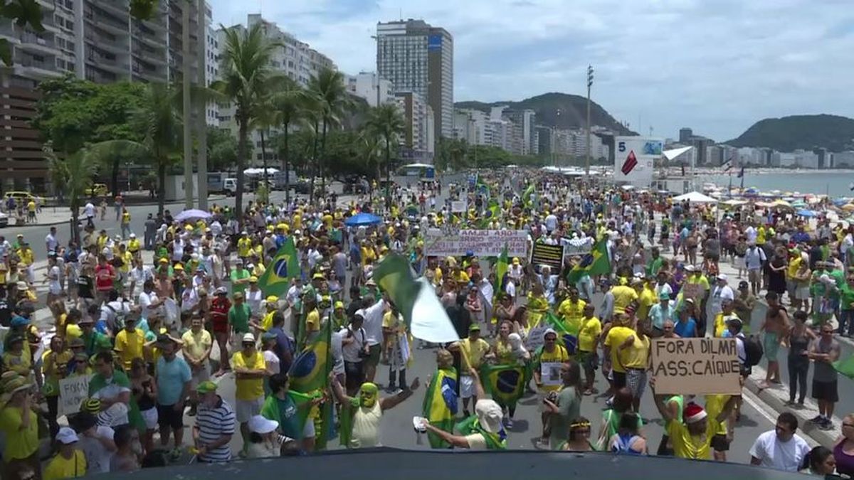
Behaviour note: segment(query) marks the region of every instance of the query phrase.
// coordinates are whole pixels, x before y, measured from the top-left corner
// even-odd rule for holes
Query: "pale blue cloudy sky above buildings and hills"
[[[454,100],[593,97],[644,134],[724,141],[790,114],[854,116],[851,0],[208,0],[215,24],[258,13],[336,61],[373,70],[377,21],[454,38]]]

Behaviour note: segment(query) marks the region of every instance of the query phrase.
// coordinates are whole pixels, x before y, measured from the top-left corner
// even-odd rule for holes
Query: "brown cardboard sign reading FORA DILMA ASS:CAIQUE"
[[[652,378],[655,378],[655,393],[659,395],[740,395],[735,339],[655,339]]]

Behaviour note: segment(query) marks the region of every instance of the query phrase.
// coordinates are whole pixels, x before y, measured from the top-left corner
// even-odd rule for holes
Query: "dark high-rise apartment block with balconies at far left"
[[[44,189],[47,161],[29,126],[43,79],[73,74],[97,83],[178,79],[182,0],[162,0],[150,20],[133,19],[128,0],[38,0],[44,32],[0,20],[14,65],[0,80],[0,176],[4,188]],[[198,3],[190,5],[190,50],[198,51]],[[205,21],[211,21],[205,4]],[[206,64],[208,56],[205,57]],[[192,60],[196,75],[197,55]],[[215,61],[212,62],[215,63]],[[207,67],[207,65],[205,66]],[[215,74],[215,73],[214,73]],[[193,77],[196,78],[195,76]],[[208,114],[208,118],[215,114]]]

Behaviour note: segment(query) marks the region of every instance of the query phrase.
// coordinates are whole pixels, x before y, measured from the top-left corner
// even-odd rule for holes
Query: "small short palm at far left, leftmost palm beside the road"
[[[51,181],[64,193],[71,208],[71,239],[79,245],[80,231],[77,225],[80,203],[85,198],[86,189],[91,184],[92,178],[95,177],[98,161],[93,158],[92,150],[87,147],[79,149],[64,159],[56,158],[52,153],[48,158]]]

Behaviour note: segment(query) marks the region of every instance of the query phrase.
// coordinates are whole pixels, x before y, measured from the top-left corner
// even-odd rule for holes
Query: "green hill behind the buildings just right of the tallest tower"
[[[471,108],[483,112],[488,112],[489,108],[500,105],[506,105],[511,109],[534,110],[537,125],[560,129],[578,129],[587,126],[587,98],[566,93],[545,93],[526,98],[521,102],[456,102],[454,104],[456,108]],[[590,102],[590,124],[605,126],[620,135],[637,135],[614,120],[614,117],[596,102]]]

